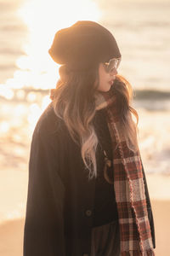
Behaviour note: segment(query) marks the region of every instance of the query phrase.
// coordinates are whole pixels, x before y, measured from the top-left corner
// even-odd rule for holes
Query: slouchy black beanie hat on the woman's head
[[[113,37],[104,26],[81,20],[56,32],[49,55],[72,70],[94,67],[99,62],[121,57]]]

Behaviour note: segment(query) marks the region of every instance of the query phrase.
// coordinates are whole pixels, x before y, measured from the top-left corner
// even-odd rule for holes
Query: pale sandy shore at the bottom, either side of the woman
[[[8,179],[9,174],[11,182],[4,185],[4,181]],[[156,256],[168,256],[170,255],[168,247],[170,237],[170,177],[160,174],[147,174],[146,178],[155,220]],[[0,188],[3,188],[3,193],[0,193],[2,207],[0,224],[1,256],[21,256],[23,254],[27,182],[27,172],[0,172]],[[5,201],[3,195],[6,195]],[[3,215],[7,214],[12,207],[14,209],[13,215],[8,215],[8,219],[4,219]]]

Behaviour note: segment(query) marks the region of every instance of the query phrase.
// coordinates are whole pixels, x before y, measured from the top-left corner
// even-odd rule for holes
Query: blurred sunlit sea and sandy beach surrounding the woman
[[[170,255],[170,0],[0,0],[0,255],[22,255],[31,135],[59,78],[48,49],[54,33],[77,20],[106,26],[121,49],[119,73],[139,113],[156,255]]]

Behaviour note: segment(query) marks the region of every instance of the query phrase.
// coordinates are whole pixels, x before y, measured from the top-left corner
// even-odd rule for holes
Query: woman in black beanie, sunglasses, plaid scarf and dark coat
[[[155,255],[138,113],[115,38],[78,21],[49,54],[60,79],[32,137],[24,255]]]

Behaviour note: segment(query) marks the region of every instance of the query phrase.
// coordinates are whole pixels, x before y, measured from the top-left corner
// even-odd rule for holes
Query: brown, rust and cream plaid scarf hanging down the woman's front
[[[114,90],[96,93],[96,110],[105,108],[105,115],[111,132],[114,169],[114,189],[119,216],[121,256],[155,255],[139,150],[133,153],[127,147],[120,125],[120,114],[116,112]],[[116,147],[116,144],[118,146]]]

